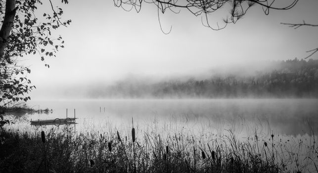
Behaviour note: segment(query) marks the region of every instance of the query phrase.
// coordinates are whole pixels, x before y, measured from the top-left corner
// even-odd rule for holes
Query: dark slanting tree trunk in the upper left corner
[[[15,0],[6,0],[4,20],[0,30],[0,60],[13,26],[15,11]]]

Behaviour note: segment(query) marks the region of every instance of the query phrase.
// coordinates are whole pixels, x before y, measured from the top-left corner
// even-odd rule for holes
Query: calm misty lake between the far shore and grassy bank
[[[31,136],[38,136],[41,130],[48,135],[55,130],[64,135],[66,131],[68,135],[74,129],[78,134],[74,136],[97,140],[99,135],[114,139],[118,130],[127,142],[133,118],[136,140],[141,143],[157,141],[157,137],[160,141],[161,136],[162,141],[172,146],[181,141],[184,151],[192,151],[192,147],[208,151],[210,143],[211,147],[221,147],[226,152],[228,148],[233,150],[232,142],[237,141],[235,146],[238,144],[242,151],[247,146],[248,151],[266,160],[267,152],[275,152],[272,159],[286,170],[316,170],[318,99],[32,100],[28,105],[34,109],[49,108],[52,112],[8,115],[6,118],[15,123],[8,129],[23,134],[29,131]],[[76,125],[30,125],[31,119],[66,118],[66,113],[74,117],[74,109]]]

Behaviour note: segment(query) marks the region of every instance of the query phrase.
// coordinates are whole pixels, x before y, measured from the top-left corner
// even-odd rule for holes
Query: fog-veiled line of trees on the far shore
[[[210,79],[170,80],[153,84],[125,83],[90,93],[92,97],[155,98],[318,98],[318,60],[293,59],[278,62],[272,72],[251,76],[213,76]]]

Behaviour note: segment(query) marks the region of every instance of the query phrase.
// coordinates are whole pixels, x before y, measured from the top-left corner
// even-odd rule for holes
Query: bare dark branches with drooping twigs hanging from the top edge
[[[275,1],[276,0],[114,0],[114,4],[117,7],[122,7],[124,10],[127,9],[124,8],[123,5],[131,5],[132,8],[135,7],[136,12],[140,11],[142,2],[156,5],[158,10],[162,13],[164,13],[166,9],[176,13],[173,9],[179,8],[180,11],[180,9],[185,8],[195,16],[202,15],[205,17],[205,22],[202,22],[204,26],[209,27],[212,30],[221,30],[224,29],[228,23],[236,23],[236,21],[241,19],[248,9],[255,4],[262,6],[264,13],[268,15],[270,9],[288,10],[294,7],[298,2],[298,0],[291,0],[291,3],[287,2],[287,5],[279,7],[279,5],[274,3]],[[230,15],[223,20],[225,25],[219,27],[219,24],[217,23],[217,28],[211,27],[208,22],[207,14],[217,11],[218,9],[225,7],[227,4],[231,4],[231,7],[229,10]],[[202,21],[203,17],[201,18]]]

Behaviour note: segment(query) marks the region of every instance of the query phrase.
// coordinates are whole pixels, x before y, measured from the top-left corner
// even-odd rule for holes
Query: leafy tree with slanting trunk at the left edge
[[[36,16],[42,0],[0,1],[0,103],[3,106],[29,100],[24,94],[35,88],[26,77],[31,70],[19,64],[21,57],[34,54],[44,61],[64,47],[62,37],[54,38],[51,32],[69,25],[71,20],[62,21],[62,8],[54,7],[51,0],[48,2],[51,10]],[[48,64],[45,66],[49,68]]]

